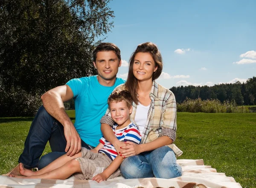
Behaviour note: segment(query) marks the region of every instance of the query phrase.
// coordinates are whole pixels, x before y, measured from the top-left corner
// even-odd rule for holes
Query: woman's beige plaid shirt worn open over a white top
[[[119,85],[114,91],[122,91],[125,89],[125,85]],[[164,88],[155,81],[153,82],[149,97],[151,99],[150,107],[148,110],[148,118],[146,121],[146,128],[144,128],[142,134],[142,140],[140,143],[148,143],[156,140],[158,137],[167,136],[172,141],[176,139],[176,100],[175,96],[169,89]],[[131,113],[131,121],[135,123],[134,118],[136,115],[137,105],[133,102],[133,110]],[[111,113],[109,110],[100,120],[101,123],[108,125],[114,125],[114,121],[111,119]]]

